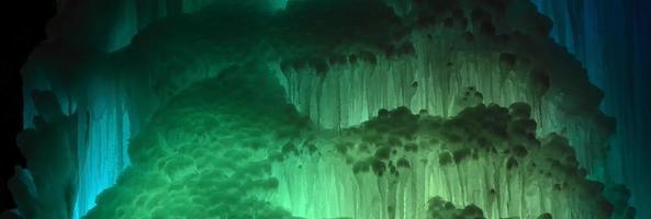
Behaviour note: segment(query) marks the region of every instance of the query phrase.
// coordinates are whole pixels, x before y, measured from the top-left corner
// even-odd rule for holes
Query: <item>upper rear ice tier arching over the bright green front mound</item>
[[[255,61],[269,66],[288,100],[326,128],[358,125],[401,105],[449,117],[482,101],[527,102],[540,136],[568,136],[582,166],[603,175],[611,122],[596,111],[601,92],[547,37],[550,23],[532,4],[386,2],[120,1],[102,8],[68,1],[77,5],[69,10],[83,12],[61,12],[50,42],[24,70],[26,127],[37,115],[33,90],[53,91],[63,111],[76,115],[75,216],[81,216],[130,163],[126,140],[159,106],[233,65]],[[105,14],[90,15],[99,9]],[[86,16],[93,20],[83,23]]]

